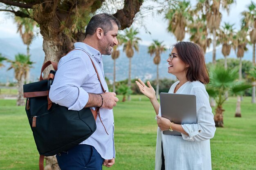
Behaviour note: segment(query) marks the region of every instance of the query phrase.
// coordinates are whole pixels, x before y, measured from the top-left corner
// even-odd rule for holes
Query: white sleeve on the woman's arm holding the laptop
[[[216,127],[212,109],[209,103],[209,95],[205,88],[193,87],[191,95],[196,96],[197,124],[183,124],[182,128],[189,134],[182,133],[182,138],[188,141],[204,141],[214,136]]]

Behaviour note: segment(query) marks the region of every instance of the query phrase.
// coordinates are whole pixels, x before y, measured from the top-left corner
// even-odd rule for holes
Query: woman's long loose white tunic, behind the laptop
[[[175,82],[168,93],[173,93]],[[161,170],[163,142],[165,170],[211,170],[210,140],[215,133],[213,113],[209,104],[209,95],[199,81],[186,82],[176,92],[196,96],[197,124],[183,124],[182,128],[189,136],[163,135],[157,130],[155,170]],[[186,104],[184,103],[184,107]],[[159,116],[161,109],[159,108]]]

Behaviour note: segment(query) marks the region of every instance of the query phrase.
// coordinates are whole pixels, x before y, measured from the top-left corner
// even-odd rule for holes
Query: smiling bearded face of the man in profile
[[[99,51],[103,55],[111,55],[113,46],[118,44],[117,33],[118,26],[113,24],[113,29],[109,30],[106,35],[103,35],[103,39],[100,41]]]

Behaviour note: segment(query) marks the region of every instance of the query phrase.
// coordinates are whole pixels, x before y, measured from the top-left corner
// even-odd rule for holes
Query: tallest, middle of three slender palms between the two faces
[[[139,40],[137,29],[133,29],[130,27],[129,29],[124,30],[124,51],[126,56],[129,58],[129,77],[128,77],[128,87],[131,87],[131,67],[132,67],[132,57],[134,54],[134,50],[139,52]],[[134,49],[134,50],[133,50]],[[130,100],[130,95],[128,95],[128,100]]]

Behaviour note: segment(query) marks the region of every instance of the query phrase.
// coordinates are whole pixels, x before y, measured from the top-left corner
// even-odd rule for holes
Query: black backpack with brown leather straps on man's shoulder
[[[54,67],[54,71],[50,71],[48,78],[43,79],[42,73],[50,64]],[[93,62],[92,64],[94,66]],[[94,68],[97,73],[95,66]],[[97,110],[83,108],[75,111],[52,103],[49,99],[49,89],[56,71],[57,64],[48,61],[42,66],[39,82],[23,85],[23,97],[27,98],[25,110],[40,154],[40,170],[43,170],[44,156],[67,151],[90,137],[96,130],[95,120],[99,113],[99,108]]]

